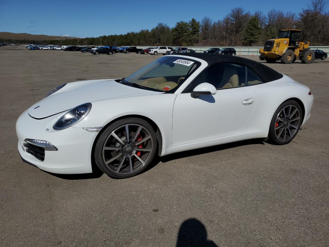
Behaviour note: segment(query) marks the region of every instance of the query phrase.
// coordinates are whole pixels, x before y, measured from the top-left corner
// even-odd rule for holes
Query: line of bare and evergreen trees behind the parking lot
[[[97,38],[28,41],[2,40],[7,43],[34,43],[54,45],[169,45],[169,46],[262,46],[275,38],[280,29],[301,29],[303,38],[311,45],[329,45],[329,12],[326,0],[312,0],[298,14],[271,9],[267,13],[251,13],[237,7],[222,19],[207,16],[200,21],[179,21],[172,28],[164,23],[151,30],[140,30],[121,35]]]

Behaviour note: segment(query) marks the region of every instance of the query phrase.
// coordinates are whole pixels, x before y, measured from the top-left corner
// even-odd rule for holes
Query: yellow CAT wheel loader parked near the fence
[[[310,64],[315,55],[308,48],[309,42],[301,41],[301,36],[302,30],[280,30],[278,38],[265,41],[264,49],[259,49],[259,53],[266,58],[267,63],[281,60],[284,64],[291,64],[300,59],[302,63]]]

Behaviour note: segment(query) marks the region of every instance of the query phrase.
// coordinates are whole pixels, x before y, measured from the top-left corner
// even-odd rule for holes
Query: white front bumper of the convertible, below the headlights
[[[19,154],[28,163],[47,172],[57,174],[91,173],[91,150],[97,132],[89,132],[73,126],[54,130],[52,126],[60,115],[38,120],[30,117],[27,110],[23,112],[16,122]],[[24,140],[27,138],[46,140],[58,150],[45,150],[44,161],[41,161],[26,151],[27,145]]]

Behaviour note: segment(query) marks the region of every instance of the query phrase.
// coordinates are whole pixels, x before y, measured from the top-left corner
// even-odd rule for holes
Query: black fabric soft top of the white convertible
[[[267,67],[264,64],[256,62],[251,59],[242,58],[238,56],[229,56],[229,55],[217,55],[213,53],[179,53],[175,54],[179,56],[189,56],[202,59],[208,63],[208,65],[213,65],[217,63],[236,63],[243,64],[251,69],[253,69],[265,82],[275,81],[283,77],[282,74]]]

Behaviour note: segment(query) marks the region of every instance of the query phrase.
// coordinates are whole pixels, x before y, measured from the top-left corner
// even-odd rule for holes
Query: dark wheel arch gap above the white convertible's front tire
[[[125,115],[125,116],[121,116],[121,117],[118,117],[116,119],[113,119],[112,121],[110,121],[109,123],[107,123],[106,125],[104,125],[104,127],[101,129],[101,131],[98,132],[93,144],[92,144],[92,148],[91,148],[91,164],[92,164],[92,169],[99,169],[94,161],[94,155],[95,155],[95,146],[96,146],[96,143],[99,139],[99,137],[101,136],[101,134],[104,132],[104,130],[111,124],[121,120],[121,119],[125,119],[125,118],[140,118],[142,120],[145,120],[147,123],[149,123],[152,128],[154,129],[155,131],[155,135],[157,137],[157,142],[158,142],[158,155],[160,156],[161,155],[161,152],[162,152],[162,134],[161,134],[161,131],[158,127],[158,125],[150,118],[148,117],[145,117],[145,116],[142,116],[142,115]]]

